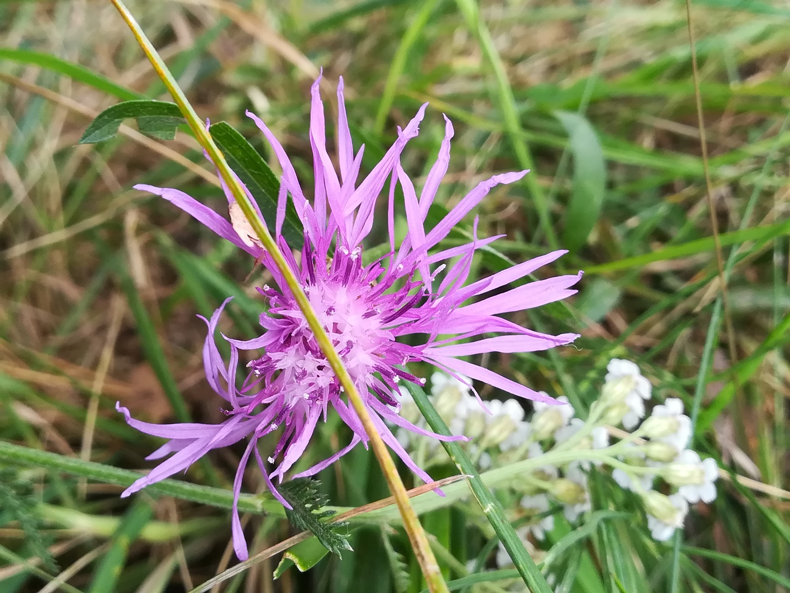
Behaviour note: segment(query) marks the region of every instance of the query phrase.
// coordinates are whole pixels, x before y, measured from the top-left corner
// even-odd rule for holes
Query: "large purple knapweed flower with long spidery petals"
[[[565,253],[554,251],[465,285],[475,251],[498,237],[477,239],[475,221],[474,240],[471,243],[437,251],[439,242],[480,203],[491,188],[500,183],[517,181],[527,172],[505,173],[483,181],[461,199],[434,229],[426,232],[424,222],[428,208],[450,161],[450,139],[453,138],[450,120],[445,118],[444,142],[418,196],[412,181],[401,168],[400,157],[408,140],[417,135],[426,105],[419,108],[404,130],[398,129],[398,138],[382,161],[358,183],[364,147],[354,154],[346,119],[342,79],[337,87],[337,98],[340,108],[337,127],[339,175],[326,149],[324,109],[318,94],[318,81],[312,87],[310,145],[315,172],[312,202],[307,201],[294,167],[280,142],[261,119],[247,112],[269,141],[283,169],[275,240],[294,274],[302,282],[318,319],[322,321],[357,389],[365,398],[382,439],[415,474],[425,482],[431,482],[431,478],[416,466],[398,443],[388,428],[388,422],[441,440],[460,440],[464,437],[434,434],[420,429],[398,414],[400,406],[393,395],[393,392],[398,392],[397,383],[401,380],[421,385],[425,383],[425,380],[408,372],[408,363],[429,362],[451,376],[463,375],[513,395],[556,403],[544,394],[478,364],[461,360],[461,357],[488,352],[533,352],[573,342],[577,334],[540,334],[499,315],[538,307],[574,294],[576,291],[571,290],[570,286],[576,284],[581,273],[501,290],[510,282],[524,278]],[[362,242],[371,232],[376,200],[388,178],[390,250],[385,257],[365,265]],[[396,249],[394,197],[397,183],[401,184],[405,198],[408,235]],[[149,455],[149,459],[160,459],[175,453],[148,476],[134,482],[122,496],[185,470],[211,449],[226,447],[249,436],[249,444],[235,476],[235,500],[239,497],[244,469],[250,455],[254,454],[269,489],[277,500],[288,506],[277,493],[272,480],[279,478],[282,481],[285,472],[307,448],[318,421],[322,417],[325,420],[330,406],[352,429],[352,440],[337,454],[298,476],[318,473],[360,442],[367,447],[367,433],[353,407],[345,401],[343,387],[340,387],[319,349],[288,286],[269,254],[261,249],[258,239],[252,236],[250,226],[241,217],[239,206],[227,188],[225,194],[228,196],[230,222],[182,191],[147,185],[135,187],[162,196],[260,260],[273,274],[276,286],[265,285],[258,289],[266,304],[266,310],[260,317],[261,327],[264,328],[261,337],[243,341],[223,335],[230,345],[228,364],[220,357],[214,334],[223,308],[230,299],[225,300],[211,319],[204,319],[209,327],[203,348],[206,377],[213,390],[227,400],[228,420],[220,425],[150,425],[132,419],[126,408],[118,406],[130,425],[142,432],[170,439]],[[292,251],[292,247],[297,246],[289,246],[280,235],[288,194],[304,228],[304,244],[300,246],[299,257]],[[470,299],[475,302],[464,304]],[[497,335],[468,342],[469,338],[478,338],[483,334]],[[412,335],[419,337],[418,346],[398,341],[398,338]],[[413,344],[415,340],[410,342]],[[241,386],[236,387],[239,350],[255,351],[257,357],[246,365],[249,373]],[[268,459],[261,459],[257,440],[280,428],[280,440],[274,451]],[[232,525],[236,554],[239,558],[246,558],[246,543],[235,503]]]

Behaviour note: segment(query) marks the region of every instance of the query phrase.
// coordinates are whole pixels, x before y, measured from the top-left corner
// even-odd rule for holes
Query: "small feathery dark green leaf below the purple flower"
[[[293,507],[285,509],[285,516],[297,529],[307,530],[314,534],[318,541],[332,553],[340,556],[340,550],[352,550],[348,539],[337,532],[345,529],[348,523],[322,523],[335,514],[335,511],[321,511],[329,499],[318,491],[318,481],[299,478],[280,485],[280,493]]]

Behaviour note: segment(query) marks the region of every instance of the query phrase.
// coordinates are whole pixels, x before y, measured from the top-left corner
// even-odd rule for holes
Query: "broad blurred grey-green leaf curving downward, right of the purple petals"
[[[598,134],[584,115],[570,111],[555,111],[554,115],[568,132],[574,156],[573,191],[562,229],[562,247],[577,251],[587,242],[604,206],[606,162]]]

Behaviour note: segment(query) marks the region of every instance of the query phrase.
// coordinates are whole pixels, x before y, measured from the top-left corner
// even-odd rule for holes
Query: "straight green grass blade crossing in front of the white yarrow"
[[[438,415],[434,406],[431,405],[431,401],[428,399],[428,396],[425,395],[425,391],[414,383],[406,382],[406,387],[412,394],[414,402],[417,404],[423,417],[425,417],[428,425],[431,426],[431,429],[434,432],[438,432],[438,434],[450,436],[450,434],[452,434],[450,429],[447,428],[445,421],[442,420],[442,417]],[[505,546],[505,550],[507,550],[507,553],[510,555],[513,565],[517,568],[517,574],[521,575],[521,579],[524,580],[532,593],[551,593],[551,588],[548,586],[543,575],[540,574],[540,570],[535,565],[535,562],[532,561],[532,557],[530,557],[527,550],[525,550],[524,544],[521,543],[521,539],[518,538],[510,521],[507,520],[502,504],[491,493],[491,489],[480,479],[477,468],[468,458],[464,449],[456,442],[443,441],[442,447],[447,451],[447,455],[450,455],[450,459],[453,460],[458,470],[460,470],[462,474],[468,476],[467,484],[472,490],[472,494],[477,502],[480,504],[480,508],[483,509],[486,519],[491,523],[491,527],[494,527],[499,541],[502,542],[502,545]],[[465,585],[461,586],[463,587]]]

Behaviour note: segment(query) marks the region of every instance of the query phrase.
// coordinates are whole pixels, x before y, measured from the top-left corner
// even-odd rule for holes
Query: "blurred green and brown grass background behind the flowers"
[[[577,348],[488,364],[584,410],[611,357],[637,361],[657,399],[680,397],[694,410],[698,450],[766,486],[751,492],[720,482],[715,503],[695,507],[684,541],[703,553],[654,544],[641,520],[611,521],[580,540],[583,562],[568,561],[563,586],[788,591],[788,5],[694,2],[710,200],[683,2],[128,6],[198,113],[228,121],[273,163],[244,111],[261,115],[305,187],[307,96],[319,66],[328,103],[337,77],[346,81],[355,145],[366,144],[363,168],[423,101],[431,107],[404,168],[421,183],[446,113],[456,135],[440,202],[452,204],[492,174],[532,168],[528,183],[500,187],[481,204],[480,236],[506,233],[494,246],[515,261],[570,247],[560,266],[586,272],[573,315],[544,308],[529,323],[583,337]],[[167,202],[131,190],[179,187],[221,210],[224,197],[193,138],[156,140],[130,121],[114,140],[77,145],[88,122],[119,100],[169,100],[109,2],[0,2],[0,35],[0,436],[149,468],[143,458],[156,443],[127,427],[115,402],[148,421],[220,421],[202,369],[205,326],[195,315],[236,295],[225,329],[251,337],[254,286],[265,275],[247,281],[246,255]],[[729,277],[724,300],[710,204]],[[476,262],[475,274],[488,270],[486,259]],[[306,463],[346,440],[337,423],[322,425]],[[228,488],[239,454],[214,451],[185,479]],[[246,492],[261,489],[255,471]],[[388,494],[361,448],[321,478],[330,504]],[[231,561],[224,510],[168,497],[134,504],[115,485],[35,468],[3,470],[0,490],[2,593],[185,591]],[[606,484],[596,508],[640,512]],[[450,556],[440,554],[448,575],[486,550],[487,535],[465,512],[426,518],[450,542]],[[255,550],[293,533],[274,516],[246,521]],[[326,557],[273,581],[274,557],[217,591],[423,587],[397,530],[368,527],[351,542],[355,552],[342,561]],[[393,564],[396,553],[402,566]]]

